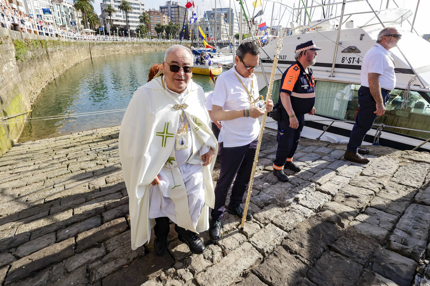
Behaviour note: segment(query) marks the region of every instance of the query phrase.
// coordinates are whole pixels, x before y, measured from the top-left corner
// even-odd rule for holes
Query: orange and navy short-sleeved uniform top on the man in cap
[[[315,105],[315,79],[312,69],[303,72],[303,66],[296,60],[282,75],[280,92],[290,95],[291,105],[297,115],[309,113]],[[282,105],[281,98],[279,103]]]

